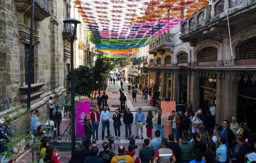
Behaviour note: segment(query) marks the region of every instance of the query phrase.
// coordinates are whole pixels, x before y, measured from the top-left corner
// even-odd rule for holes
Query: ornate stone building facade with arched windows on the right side
[[[173,29],[172,47],[163,50],[155,40],[149,50],[149,85],[161,84],[162,97],[191,101],[195,111],[206,112],[214,101],[217,124],[237,116],[255,132],[255,2],[213,0],[181,22],[179,31]]]

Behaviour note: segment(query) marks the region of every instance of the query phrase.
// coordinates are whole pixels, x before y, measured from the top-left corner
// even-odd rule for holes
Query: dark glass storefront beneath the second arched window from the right
[[[203,114],[206,115],[207,109],[210,107],[210,102],[214,101],[216,105],[217,95],[217,80],[211,78],[200,78],[199,88],[199,107],[203,110]]]

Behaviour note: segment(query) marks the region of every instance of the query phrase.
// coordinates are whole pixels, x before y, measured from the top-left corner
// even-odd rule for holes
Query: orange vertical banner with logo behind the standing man
[[[172,111],[176,111],[175,101],[161,101],[162,113],[165,114],[166,124],[165,124],[165,137],[168,137],[172,133],[171,121],[168,121],[169,116],[172,115]]]

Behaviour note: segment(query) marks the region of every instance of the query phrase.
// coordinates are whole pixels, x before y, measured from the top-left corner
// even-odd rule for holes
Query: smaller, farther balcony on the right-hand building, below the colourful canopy
[[[149,54],[156,54],[158,51],[161,53],[165,51],[165,49],[171,50],[174,47],[174,43],[172,41],[174,34],[162,34],[158,36],[150,45],[149,45]]]

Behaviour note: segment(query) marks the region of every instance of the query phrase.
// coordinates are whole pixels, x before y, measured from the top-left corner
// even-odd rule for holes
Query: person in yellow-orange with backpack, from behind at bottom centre
[[[114,156],[110,163],[134,163],[134,161],[130,155],[125,155],[125,147],[120,145],[118,147],[118,155]]]

